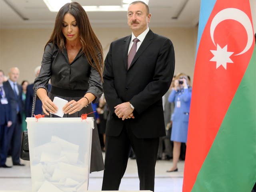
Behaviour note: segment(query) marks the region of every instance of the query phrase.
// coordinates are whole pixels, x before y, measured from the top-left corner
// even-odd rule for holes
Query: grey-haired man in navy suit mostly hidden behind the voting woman
[[[38,77],[39,72],[40,72],[41,66],[37,66],[35,68],[35,75]],[[34,99],[34,83],[29,84],[27,86],[27,92],[26,92],[26,101],[25,101],[25,114],[26,117],[31,117],[32,114],[32,104],[33,104],[33,99]],[[51,85],[48,84],[48,91],[50,92]],[[35,105],[35,115],[42,114],[42,101],[40,99],[36,100],[36,105]]]

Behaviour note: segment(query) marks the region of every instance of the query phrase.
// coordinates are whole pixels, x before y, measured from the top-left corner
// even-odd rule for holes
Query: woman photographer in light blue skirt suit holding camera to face
[[[168,98],[169,102],[174,102],[175,108],[172,114],[172,133],[173,141],[173,165],[166,172],[178,171],[178,160],[180,158],[181,143],[187,142],[188,134],[188,117],[190,110],[190,101],[192,88],[189,86],[188,76],[180,74],[174,81],[174,88]]]

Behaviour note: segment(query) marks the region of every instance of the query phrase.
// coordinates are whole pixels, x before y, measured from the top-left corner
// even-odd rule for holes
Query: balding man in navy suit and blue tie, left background
[[[9,79],[4,82],[6,86],[6,92],[10,93],[11,114],[12,114],[12,126],[7,131],[7,146],[11,146],[12,163],[13,165],[24,166],[20,164],[20,147],[21,147],[21,120],[22,120],[22,87],[17,84],[17,80],[20,74],[20,70],[16,67],[10,69]]]

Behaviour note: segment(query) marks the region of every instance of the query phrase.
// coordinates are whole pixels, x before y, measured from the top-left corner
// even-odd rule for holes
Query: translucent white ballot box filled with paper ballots
[[[94,119],[26,118],[33,192],[88,189]]]

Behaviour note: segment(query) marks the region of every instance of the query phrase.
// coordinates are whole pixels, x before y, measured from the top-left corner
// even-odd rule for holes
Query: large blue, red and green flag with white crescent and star
[[[251,192],[256,46],[249,0],[201,0],[183,192]]]

